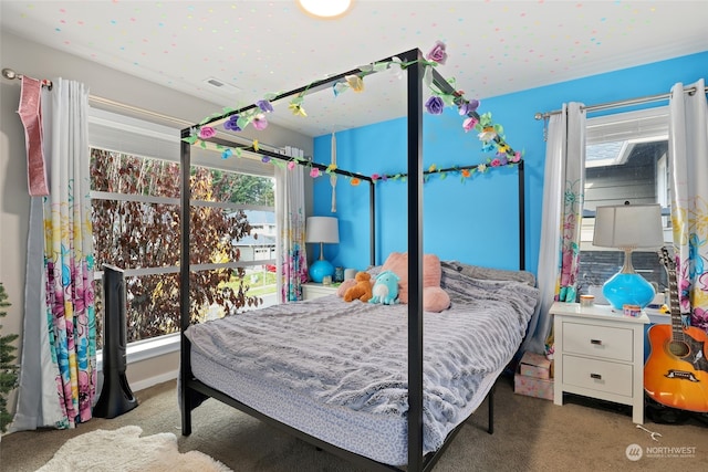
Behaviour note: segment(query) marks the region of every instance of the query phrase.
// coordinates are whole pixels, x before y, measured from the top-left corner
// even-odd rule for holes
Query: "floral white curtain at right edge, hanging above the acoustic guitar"
[[[671,224],[681,314],[708,333],[708,103],[705,80],[669,101]]]

